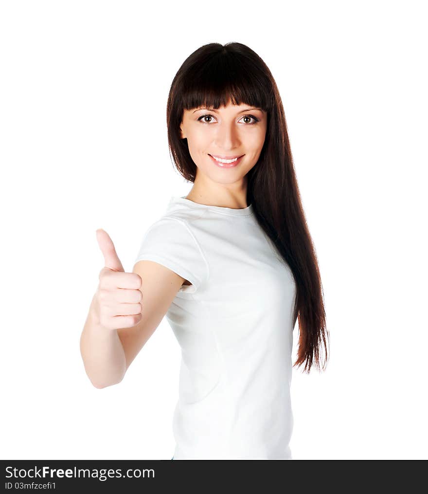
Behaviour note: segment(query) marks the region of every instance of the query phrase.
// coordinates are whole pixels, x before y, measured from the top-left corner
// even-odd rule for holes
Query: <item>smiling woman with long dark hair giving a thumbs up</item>
[[[328,331],[270,70],[244,44],[201,46],[172,82],[167,126],[193,187],[146,231],[132,273],[97,230],[86,372],[96,387],[120,382],[166,316],[182,349],[173,459],[291,459],[293,328],[306,372],[325,368]]]

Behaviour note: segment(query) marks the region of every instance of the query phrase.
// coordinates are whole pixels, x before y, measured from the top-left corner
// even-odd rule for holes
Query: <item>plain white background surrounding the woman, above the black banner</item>
[[[79,338],[96,229],[132,271],[191,188],[167,147],[172,79],[228,41],[279,87],[325,294],[330,361],[294,370],[293,458],[427,459],[424,3],[1,2],[2,459],[172,457],[167,321],[104,389]]]

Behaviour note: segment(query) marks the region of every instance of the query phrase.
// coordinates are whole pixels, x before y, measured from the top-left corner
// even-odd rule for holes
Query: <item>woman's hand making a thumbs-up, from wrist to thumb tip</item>
[[[104,267],[94,296],[95,315],[106,329],[131,328],[142,318],[143,280],[137,273],[125,273],[106,231],[98,229],[96,234]]]

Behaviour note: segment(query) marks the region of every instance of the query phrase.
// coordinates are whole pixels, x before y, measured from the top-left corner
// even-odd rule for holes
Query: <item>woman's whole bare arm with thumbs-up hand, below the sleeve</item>
[[[97,234],[105,267],[80,336],[80,353],[92,384],[105,388],[123,379],[185,279],[146,260],[125,273],[107,232]]]

